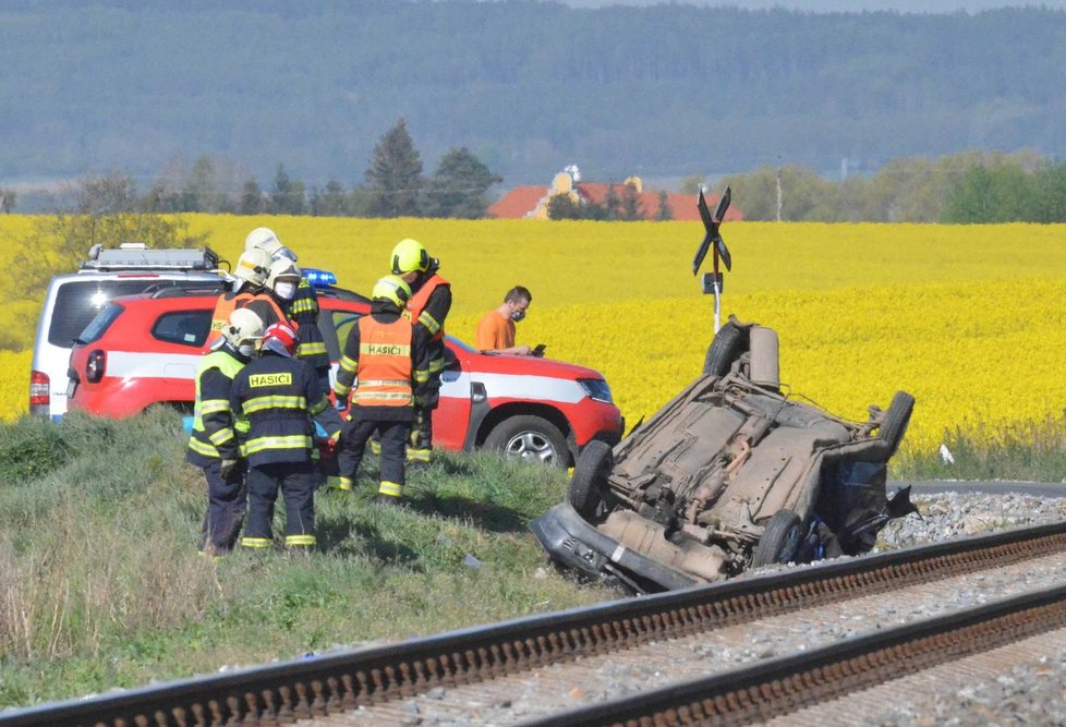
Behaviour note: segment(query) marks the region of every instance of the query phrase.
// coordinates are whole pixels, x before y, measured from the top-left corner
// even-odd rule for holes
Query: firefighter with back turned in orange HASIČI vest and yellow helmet
[[[338,450],[337,487],[352,488],[363,447],[377,432],[381,477],[376,499],[395,505],[403,495],[403,449],[411,422],[428,388],[429,336],[403,315],[411,288],[402,279],[386,276],[372,294],[371,314],[348,334],[334,385],[338,408],[347,405],[351,392],[351,414]]]

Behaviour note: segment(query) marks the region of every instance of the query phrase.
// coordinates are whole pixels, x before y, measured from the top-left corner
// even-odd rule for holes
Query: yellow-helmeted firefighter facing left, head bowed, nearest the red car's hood
[[[426,395],[415,405],[407,450],[409,461],[427,463],[433,452],[433,412],[439,402],[440,373],[445,367],[445,318],[451,310],[451,283],[437,272],[440,260],[429,257],[417,240],[401,240],[392,249],[391,265],[392,275],[411,287],[408,314],[412,323],[429,339],[429,381]]]

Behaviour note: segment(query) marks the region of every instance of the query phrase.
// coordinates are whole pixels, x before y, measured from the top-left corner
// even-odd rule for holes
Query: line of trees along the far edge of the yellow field
[[[319,217],[487,216],[489,190],[502,182],[464,147],[445,155],[432,177],[423,175],[421,155],[403,119],[379,140],[365,171],[365,183],[346,189],[336,180],[307,187],[279,163],[264,190],[254,177],[239,182],[234,172],[207,156],[190,169],[165,170],[146,192],[120,173],[82,180],[73,201],[57,211],[97,215],[228,213]],[[237,183],[234,181],[237,180]],[[708,180],[691,174],[681,192],[729,186],[736,206],[752,221],[812,222],[1066,222],[1066,162],[1032,150],[966,152],[938,159],[896,159],[870,175],[834,181],[799,166],[762,167]],[[237,189],[230,194],[228,189]],[[0,211],[14,208],[14,192],[0,187]],[[665,190],[654,214],[643,208],[635,186],[610,184],[602,202],[557,195],[550,219],[628,221],[674,218]]]

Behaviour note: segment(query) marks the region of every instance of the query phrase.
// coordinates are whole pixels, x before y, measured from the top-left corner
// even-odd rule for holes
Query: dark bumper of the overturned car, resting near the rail
[[[618,573],[641,592],[674,591],[698,583],[604,535],[569,502],[553,507],[531,522],[530,530],[553,559],[586,575],[601,578]]]

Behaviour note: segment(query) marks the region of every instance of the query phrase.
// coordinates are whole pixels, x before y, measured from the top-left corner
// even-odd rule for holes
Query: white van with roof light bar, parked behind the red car
[[[119,295],[162,288],[221,292],[219,257],[210,247],[148,250],[125,243],[94,245],[77,272],[52,278],[37,320],[29,373],[29,413],[58,420],[66,412],[71,347],[90,320]]]

